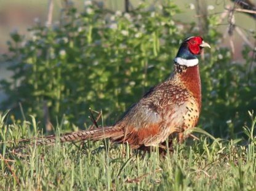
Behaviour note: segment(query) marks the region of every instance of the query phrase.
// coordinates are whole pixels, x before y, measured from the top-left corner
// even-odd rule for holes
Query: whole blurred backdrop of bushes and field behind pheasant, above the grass
[[[237,136],[256,106],[255,4],[0,0],[1,110],[49,131],[87,122],[89,107],[111,123],[166,78],[180,40],[200,34],[214,47],[202,58],[201,125]]]

